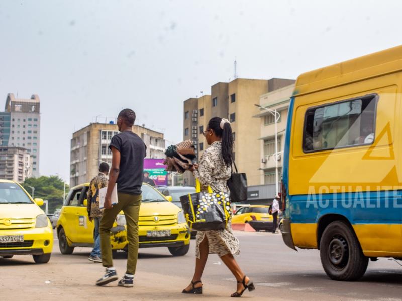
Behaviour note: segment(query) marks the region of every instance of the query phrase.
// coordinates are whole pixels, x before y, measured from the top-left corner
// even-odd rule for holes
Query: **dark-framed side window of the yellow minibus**
[[[376,94],[370,94],[308,109],[303,151],[372,144],[377,98]]]

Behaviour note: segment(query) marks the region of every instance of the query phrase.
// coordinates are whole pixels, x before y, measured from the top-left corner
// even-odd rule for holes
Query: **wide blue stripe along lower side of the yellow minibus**
[[[292,223],[317,223],[327,214],[343,215],[351,224],[402,223],[402,190],[293,195],[288,198]]]

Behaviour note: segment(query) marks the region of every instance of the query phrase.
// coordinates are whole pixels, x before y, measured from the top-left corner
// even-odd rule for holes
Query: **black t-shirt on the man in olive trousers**
[[[113,136],[109,147],[112,146],[120,152],[117,191],[133,195],[141,194],[144,157],[147,154],[144,141],[132,131],[123,131]]]

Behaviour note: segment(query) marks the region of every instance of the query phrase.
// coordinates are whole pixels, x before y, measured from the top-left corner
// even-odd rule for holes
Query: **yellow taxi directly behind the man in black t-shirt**
[[[74,247],[92,247],[94,224],[86,212],[86,193],[89,183],[73,187],[67,195],[57,221],[57,236],[62,254],[71,254]],[[187,254],[190,232],[183,211],[169,202],[152,186],[142,185],[142,201],[139,216],[139,247],[168,247],[173,256]],[[111,229],[112,250],[127,251],[126,218],[118,214]]]

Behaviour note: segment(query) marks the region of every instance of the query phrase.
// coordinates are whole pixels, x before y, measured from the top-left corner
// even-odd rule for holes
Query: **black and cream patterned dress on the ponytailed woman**
[[[227,166],[222,158],[221,141],[216,141],[207,148],[199,162],[198,170],[194,171],[201,183],[201,190],[207,191],[210,186],[213,191],[229,191],[227,181],[231,176],[231,167]],[[240,253],[239,240],[232,232],[231,219],[226,229],[198,231],[196,236],[195,256],[199,259],[199,244],[205,237],[208,239],[209,253],[222,257],[227,254],[238,255]]]

